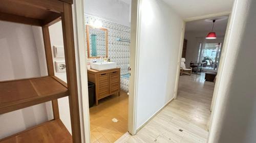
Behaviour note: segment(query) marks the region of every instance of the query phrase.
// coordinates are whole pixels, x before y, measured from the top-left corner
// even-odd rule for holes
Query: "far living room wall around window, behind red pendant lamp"
[[[185,32],[184,39],[187,39],[187,50],[186,50],[186,67],[189,67],[191,61],[198,60],[199,42],[206,43],[222,43],[224,42],[225,31],[216,32],[217,39],[205,39],[207,32]]]

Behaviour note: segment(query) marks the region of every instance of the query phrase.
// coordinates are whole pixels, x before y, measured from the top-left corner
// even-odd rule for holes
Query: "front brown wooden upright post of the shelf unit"
[[[65,51],[65,62],[67,71],[68,88],[70,92],[69,105],[72,127],[73,143],[81,142],[79,103],[77,92],[75,47],[73,33],[72,7],[68,3],[63,3],[64,12],[61,15],[63,44]]]

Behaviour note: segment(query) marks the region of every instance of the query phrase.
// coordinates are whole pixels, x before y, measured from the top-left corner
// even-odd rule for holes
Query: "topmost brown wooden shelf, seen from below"
[[[61,20],[62,12],[58,0],[1,0],[0,20],[44,26]]]

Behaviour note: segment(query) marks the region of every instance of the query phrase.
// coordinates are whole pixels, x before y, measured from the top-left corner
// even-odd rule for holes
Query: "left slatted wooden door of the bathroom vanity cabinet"
[[[110,94],[110,74],[103,73],[98,75],[98,98],[103,98]]]

